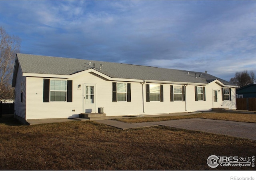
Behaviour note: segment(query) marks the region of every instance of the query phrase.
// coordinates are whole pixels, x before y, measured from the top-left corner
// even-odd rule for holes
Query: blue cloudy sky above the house
[[[256,1],[0,0],[21,53],[256,74]]]

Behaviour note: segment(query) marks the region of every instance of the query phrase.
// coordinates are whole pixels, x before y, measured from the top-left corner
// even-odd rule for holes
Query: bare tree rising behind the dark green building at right
[[[243,87],[249,84],[255,83],[256,78],[253,71],[248,73],[247,70],[236,72],[235,77],[230,79],[230,82],[236,84],[237,86]]]

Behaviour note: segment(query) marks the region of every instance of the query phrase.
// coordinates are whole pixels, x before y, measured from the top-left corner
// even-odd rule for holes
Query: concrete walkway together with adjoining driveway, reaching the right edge
[[[256,140],[256,123],[249,122],[235,122],[202,118],[142,123],[125,123],[116,120],[94,120],[94,122],[103,123],[108,126],[120,128],[122,130],[150,126],[168,126],[172,128],[195,130],[209,132],[213,134],[223,134],[227,136]]]

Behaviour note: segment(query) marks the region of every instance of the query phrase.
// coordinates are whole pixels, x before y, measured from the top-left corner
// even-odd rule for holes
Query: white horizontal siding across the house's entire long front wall
[[[26,84],[26,93],[28,94],[26,99],[27,120],[78,117],[78,114],[84,112],[84,109],[86,109],[83,103],[84,84],[96,84],[96,112],[98,112],[98,108],[103,107],[104,113],[106,113],[107,116],[161,114],[185,112],[186,110],[187,112],[211,110],[213,106],[212,89],[220,90],[218,94],[219,107],[236,108],[236,94],[234,88],[232,88],[232,101],[222,102],[221,86],[215,82],[205,86],[206,101],[195,101],[195,86],[188,85],[186,87],[186,102],[171,102],[171,84],[163,84],[164,102],[146,102],[146,84],[142,85],[140,82],[131,82],[132,102],[112,102],[112,81],[106,80],[94,73],[84,73],[74,76],[72,79],[68,79],[73,80],[72,102],[43,102],[43,79],[44,78],[27,77],[27,81],[24,82],[24,84]],[[17,81],[17,83],[20,82]],[[81,88],[78,88],[79,84]],[[142,96],[144,97],[142,98]],[[16,98],[18,102],[19,97],[17,96]],[[22,117],[24,117],[24,115]]]

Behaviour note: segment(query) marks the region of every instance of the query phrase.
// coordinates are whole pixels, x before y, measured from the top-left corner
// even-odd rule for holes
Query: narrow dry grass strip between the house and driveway
[[[164,116],[164,117],[138,117],[128,119],[116,119],[122,122],[138,123],[138,122],[153,122],[153,121],[167,121],[187,118],[204,118],[204,119],[216,119],[216,120],[227,120],[227,121],[238,121],[238,122],[254,122],[256,123],[256,114],[241,114],[241,113],[198,113],[186,116]]]

